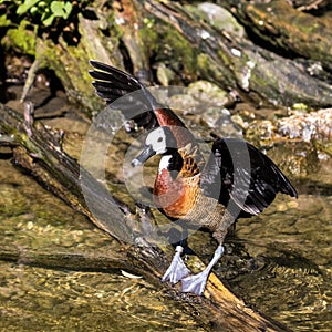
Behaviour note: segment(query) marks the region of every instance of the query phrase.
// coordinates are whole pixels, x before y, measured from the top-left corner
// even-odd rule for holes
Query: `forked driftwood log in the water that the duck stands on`
[[[189,312],[199,317],[200,323],[207,330],[216,331],[288,331],[287,328],[263,318],[248,308],[242,300],[234,295],[222,282],[212,273],[209,278],[205,297],[181,294],[178,287],[163,284],[160,276],[169,263],[170,257],[160,248],[149,246],[142,234],[129,230],[129,220],[134,217],[121,201],[110,200],[105,188],[93,177],[85,184],[97,201],[102,201],[102,218],[95,218],[87,209],[80,184],[80,165],[61,149],[61,139],[48,131],[42,124],[33,124],[32,108],[25,106],[24,120],[13,110],[0,104],[0,146],[10,146],[13,152],[13,163],[29,170],[39,183],[52,190],[74,209],[81,211],[97,227],[115,238],[131,240],[136,245],[121,242],[120,250],[110,257],[92,259],[77,255],[63,255],[54,257],[52,252],[27,251],[24,253],[13,248],[0,248],[2,260],[15,261],[46,267],[63,267],[74,269],[95,269],[108,271],[110,269],[125,268],[134,273],[143,274],[149,282],[158,288],[173,291]],[[81,170],[82,172],[82,170]],[[86,188],[85,188],[86,189]],[[128,218],[128,222],[117,222],[116,214],[110,217],[110,211],[121,211]],[[118,215],[118,214],[117,214]],[[147,218],[146,214],[141,219]],[[123,219],[122,219],[123,221]],[[129,240],[129,239],[128,239]],[[169,248],[166,248],[169,249]],[[75,262],[75,263],[74,263]],[[81,267],[80,267],[81,264]]]

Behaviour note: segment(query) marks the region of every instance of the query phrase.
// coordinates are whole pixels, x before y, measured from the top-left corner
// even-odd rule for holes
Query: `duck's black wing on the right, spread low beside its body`
[[[219,200],[235,218],[260,214],[278,193],[298,193],[278,166],[242,139],[219,138],[203,175],[205,195]]]

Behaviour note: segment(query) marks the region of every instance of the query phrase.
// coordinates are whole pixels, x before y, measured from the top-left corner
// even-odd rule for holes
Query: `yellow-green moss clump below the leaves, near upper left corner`
[[[24,54],[35,55],[35,29],[31,29],[31,24],[23,20],[18,28],[8,30],[2,45],[7,49],[18,48]]]

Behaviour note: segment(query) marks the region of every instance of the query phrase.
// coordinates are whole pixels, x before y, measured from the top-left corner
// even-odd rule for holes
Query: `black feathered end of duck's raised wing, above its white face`
[[[153,111],[162,105],[137,79],[102,62],[91,60],[90,64],[94,68],[89,72],[95,79],[92,84],[108,107],[122,111],[126,120],[144,128],[158,126]]]

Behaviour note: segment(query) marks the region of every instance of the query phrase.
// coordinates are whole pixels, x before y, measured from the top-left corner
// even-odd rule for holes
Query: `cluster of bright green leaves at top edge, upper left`
[[[43,25],[50,27],[55,18],[66,20],[73,6],[70,1],[24,0],[17,9],[18,15],[31,14],[40,19]]]

